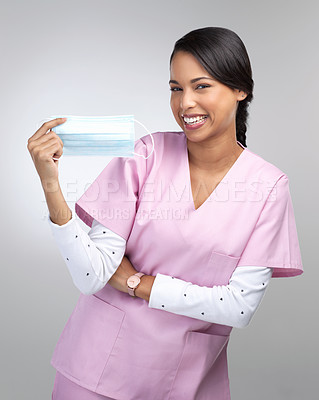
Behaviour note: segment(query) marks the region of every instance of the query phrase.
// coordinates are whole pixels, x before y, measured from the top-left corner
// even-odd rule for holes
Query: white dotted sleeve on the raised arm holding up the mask
[[[83,294],[101,290],[120,265],[126,241],[96,220],[86,233],[75,219],[64,225],[48,222],[75,286]]]

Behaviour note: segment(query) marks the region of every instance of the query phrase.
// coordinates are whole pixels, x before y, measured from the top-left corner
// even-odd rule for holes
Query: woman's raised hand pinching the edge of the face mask
[[[63,124],[66,120],[66,118],[56,118],[45,122],[28,139],[27,148],[42,183],[58,181],[58,159],[63,154],[63,142],[55,132],[49,129]]]

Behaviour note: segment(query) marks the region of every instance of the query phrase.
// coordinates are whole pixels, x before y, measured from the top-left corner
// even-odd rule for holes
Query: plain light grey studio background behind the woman
[[[305,268],[273,279],[249,327],[233,330],[232,400],[315,398],[318,12],[315,1],[1,2],[1,399],[51,398],[50,357],[79,296],[46,221],[27,139],[52,114],[132,113],[152,132],[180,130],[169,56],[177,39],[205,26],[232,29],[247,47],[248,148],[290,178]],[[62,157],[72,210],[109,160]]]

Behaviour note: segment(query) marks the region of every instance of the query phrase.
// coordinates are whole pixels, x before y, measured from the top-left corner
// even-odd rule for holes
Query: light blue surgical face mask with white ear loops
[[[134,115],[102,117],[54,115],[45,121],[55,118],[67,118],[63,124],[52,128],[63,142],[64,155],[134,157],[136,154],[147,159],[154,151],[152,134],[134,118]],[[153,149],[147,157],[134,152],[136,140],[134,121],[140,124],[152,138]]]

